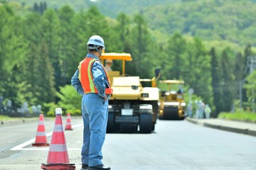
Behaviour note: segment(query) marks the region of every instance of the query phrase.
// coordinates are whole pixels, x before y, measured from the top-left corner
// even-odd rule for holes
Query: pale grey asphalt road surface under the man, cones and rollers
[[[71,118],[65,131],[70,163],[80,169],[82,119]],[[49,147],[31,147],[38,123],[0,127],[0,169],[41,169]],[[50,143],[54,119],[45,119]],[[63,118],[65,127],[65,118]],[[151,134],[107,134],[103,163],[113,170],[255,170],[256,137],[194,125],[186,120],[157,120]]]

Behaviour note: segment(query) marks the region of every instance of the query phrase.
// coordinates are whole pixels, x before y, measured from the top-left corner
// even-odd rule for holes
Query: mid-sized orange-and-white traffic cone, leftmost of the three
[[[46,139],[46,128],[44,126],[43,114],[39,115],[38,130],[36,132],[36,141],[32,144],[32,147],[48,147]]]

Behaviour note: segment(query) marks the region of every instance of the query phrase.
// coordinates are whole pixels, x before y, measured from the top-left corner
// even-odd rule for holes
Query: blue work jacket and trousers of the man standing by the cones
[[[92,64],[93,84],[97,89],[97,94],[84,94],[82,84],[79,79],[79,69],[71,79],[72,86],[82,95],[82,120],[84,123],[82,164],[97,166],[102,164],[102,145],[105,141],[108,116],[108,98],[105,101],[105,89],[110,88],[107,75],[101,62],[95,55],[87,54],[86,57],[97,59]]]

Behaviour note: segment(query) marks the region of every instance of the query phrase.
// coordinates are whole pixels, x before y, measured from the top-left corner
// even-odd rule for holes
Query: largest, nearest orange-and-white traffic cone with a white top
[[[70,164],[68,159],[68,149],[65,143],[61,113],[61,108],[55,109],[55,125],[53,129],[53,136],[50,142],[47,163],[42,164],[41,169],[75,169],[75,164]]]

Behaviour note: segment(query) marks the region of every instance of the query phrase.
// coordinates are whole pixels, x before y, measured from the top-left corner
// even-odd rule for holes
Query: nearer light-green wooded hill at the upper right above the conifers
[[[256,45],[256,4],[250,1],[186,1],[153,6],[142,13],[152,30]]]

